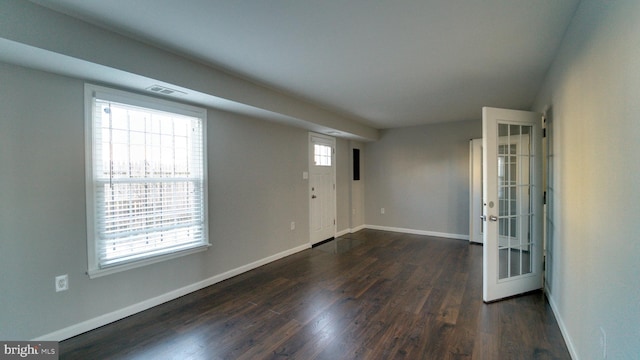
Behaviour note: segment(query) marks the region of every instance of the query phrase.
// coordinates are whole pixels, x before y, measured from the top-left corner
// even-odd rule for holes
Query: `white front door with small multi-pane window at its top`
[[[309,228],[311,244],[336,233],[335,139],[309,134]]]

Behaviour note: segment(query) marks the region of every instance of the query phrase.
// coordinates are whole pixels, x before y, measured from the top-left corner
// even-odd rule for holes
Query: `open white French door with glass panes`
[[[542,288],[542,115],[485,107],[483,299]]]

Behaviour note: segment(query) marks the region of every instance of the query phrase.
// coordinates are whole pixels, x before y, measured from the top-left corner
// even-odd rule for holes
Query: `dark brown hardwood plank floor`
[[[482,302],[482,247],[362,230],[60,343],[61,359],[570,359],[541,292]]]

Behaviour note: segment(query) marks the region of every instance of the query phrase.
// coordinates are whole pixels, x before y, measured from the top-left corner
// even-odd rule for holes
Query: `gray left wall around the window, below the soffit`
[[[213,246],[90,280],[83,85],[0,63],[0,339],[40,337],[308,244],[308,132],[210,109]],[[337,163],[349,164],[347,154],[339,151]],[[343,198],[347,171],[338,169]],[[349,223],[350,206],[338,202],[339,224]],[[70,289],[56,293],[61,274]]]

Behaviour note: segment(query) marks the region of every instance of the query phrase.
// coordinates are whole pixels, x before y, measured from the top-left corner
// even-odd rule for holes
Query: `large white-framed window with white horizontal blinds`
[[[90,277],[202,251],[206,110],[85,86]]]

